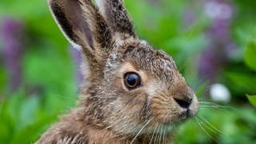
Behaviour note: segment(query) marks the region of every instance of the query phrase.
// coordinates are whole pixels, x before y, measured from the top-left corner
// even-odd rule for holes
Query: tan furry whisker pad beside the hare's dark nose
[[[158,95],[150,102],[152,115],[156,122],[172,123],[177,122],[182,110],[179,109],[173,98]]]

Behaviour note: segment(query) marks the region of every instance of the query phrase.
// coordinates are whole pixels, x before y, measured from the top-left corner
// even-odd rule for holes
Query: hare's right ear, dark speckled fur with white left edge
[[[96,0],[100,12],[114,32],[126,37],[137,37],[133,22],[123,5],[123,0]]]

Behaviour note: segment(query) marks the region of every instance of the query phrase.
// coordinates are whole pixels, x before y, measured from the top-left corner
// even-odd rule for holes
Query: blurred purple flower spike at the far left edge
[[[8,75],[8,89],[18,90],[22,83],[23,26],[14,18],[3,18],[0,25],[2,61]]]

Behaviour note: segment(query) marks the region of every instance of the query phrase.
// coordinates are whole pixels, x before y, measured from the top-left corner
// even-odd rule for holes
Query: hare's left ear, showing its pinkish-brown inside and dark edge
[[[48,0],[48,4],[66,38],[89,58],[107,51],[110,27],[90,0]]]

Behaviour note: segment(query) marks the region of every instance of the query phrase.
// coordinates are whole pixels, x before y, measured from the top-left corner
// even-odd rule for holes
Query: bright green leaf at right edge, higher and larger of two
[[[252,70],[256,71],[256,42],[250,41],[247,44],[246,54],[245,54],[246,65]]]

